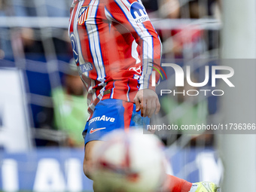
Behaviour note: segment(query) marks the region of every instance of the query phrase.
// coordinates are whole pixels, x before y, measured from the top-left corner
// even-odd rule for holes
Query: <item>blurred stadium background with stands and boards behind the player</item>
[[[194,72],[204,65],[199,59],[218,65],[224,54],[221,0],[142,2],[163,42],[163,62],[194,63]],[[0,0],[0,191],[92,190],[82,173],[81,132],[88,115],[67,30],[71,3]],[[154,121],[215,123],[221,118],[216,96],[199,98],[193,105],[181,100],[161,97],[160,116]],[[158,135],[166,144],[170,173],[191,182],[221,183],[224,169],[215,134]]]

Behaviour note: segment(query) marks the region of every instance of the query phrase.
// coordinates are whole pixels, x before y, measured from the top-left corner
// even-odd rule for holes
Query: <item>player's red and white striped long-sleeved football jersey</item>
[[[154,89],[161,42],[141,0],[74,0],[69,37],[91,114],[101,99],[133,102],[138,90]]]

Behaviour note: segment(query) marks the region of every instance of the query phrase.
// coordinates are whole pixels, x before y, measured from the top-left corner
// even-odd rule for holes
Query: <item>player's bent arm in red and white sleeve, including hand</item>
[[[139,92],[134,102],[136,111],[141,110],[143,117],[151,117],[160,110],[160,102],[151,85],[153,64],[160,65],[161,42],[141,1],[109,0],[105,7],[108,20],[120,23],[128,29],[137,44],[142,59],[142,75],[139,79]],[[156,73],[156,81],[159,74]]]

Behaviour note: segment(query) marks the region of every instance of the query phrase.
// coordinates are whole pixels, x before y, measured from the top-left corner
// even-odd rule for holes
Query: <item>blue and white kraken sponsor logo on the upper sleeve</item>
[[[149,20],[145,8],[139,2],[133,2],[130,8],[130,14],[133,16],[133,19],[137,24],[144,23],[145,21]]]

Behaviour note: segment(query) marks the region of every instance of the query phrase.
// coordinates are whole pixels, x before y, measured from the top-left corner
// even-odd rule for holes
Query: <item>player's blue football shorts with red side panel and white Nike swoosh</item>
[[[131,126],[142,128],[149,123],[149,117],[142,117],[140,111],[136,112],[133,102],[104,99],[96,105],[93,116],[85,125],[84,145],[93,140],[101,140],[102,136],[112,130],[123,129],[128,132]]]

